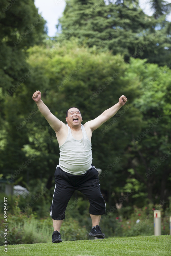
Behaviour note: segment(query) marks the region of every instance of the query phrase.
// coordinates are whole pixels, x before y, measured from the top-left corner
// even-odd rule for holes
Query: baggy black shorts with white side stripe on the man
[[[106,211],[106,204],[100,192],[98,171],[94,166],[85,174],[73,175],[64,172],[59,166],[55,171],[55,190],[50,207],[50,216],[54,220],[65,219],[65,210],[69,199],[75,190],[87,196],[90,207],[89,213],[103,215]]]

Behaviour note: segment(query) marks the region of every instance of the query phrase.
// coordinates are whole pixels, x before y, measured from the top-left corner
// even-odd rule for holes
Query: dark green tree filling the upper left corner
[[[42,41],[44,25],[45,20],[37,13],[33,0],[1,1],[0,89],[6,97],[26,80],[29,72],[26,51]]]

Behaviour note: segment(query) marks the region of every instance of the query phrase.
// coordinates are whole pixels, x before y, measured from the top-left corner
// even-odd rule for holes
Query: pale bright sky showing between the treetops
[[[148,2],[149,0],[139,0],[139,6],[146,14],[152,15],[153,12],[150,10]],[[167,0],[167,2],[171,3],[171,0]],[[55,36],[58,19],[62,16],[65,8],[65,0],[35,0],[34,3],[38,8],[38,13],[47,21],[48,36]],[[166,19],[171,21],[171,14]]]

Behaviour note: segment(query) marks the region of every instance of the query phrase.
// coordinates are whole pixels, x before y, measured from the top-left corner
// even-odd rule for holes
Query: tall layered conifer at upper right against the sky
[[[125,61],[132,56],[166,65],[170,58],[169,24],[164,16],[156,20],[145,15],[137,1],[105,4],[103,0],[70,0],[59,19],[62,34],[58,40],[76,37],[81,45],[123,54]]]

